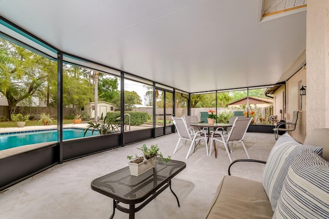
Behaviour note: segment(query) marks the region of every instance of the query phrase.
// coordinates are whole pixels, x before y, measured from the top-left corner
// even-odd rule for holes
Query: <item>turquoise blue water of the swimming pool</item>
[[[63,129],[63,140],[83,137],[83,133],[83,129]],[[94,132],[93,136],[95,135],[98,135],[98,131]],[[86,136],[92,136],[92,131],[88,130]],[[57,141],[57,129],[48,131],[2,134],[0,135],[0,150],[52,141]]]

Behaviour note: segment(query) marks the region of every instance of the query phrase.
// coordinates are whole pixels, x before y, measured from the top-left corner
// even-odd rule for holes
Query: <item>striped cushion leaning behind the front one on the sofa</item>
[[[276,209],[283,181],[291,162],[294,161],[300,151],[306,148],[310,148],[317,154],[322,155],[322,148],[302,145],[287,133],[283,134],[275,146],[273,146],[263,173],[263,186],[273,211]]]

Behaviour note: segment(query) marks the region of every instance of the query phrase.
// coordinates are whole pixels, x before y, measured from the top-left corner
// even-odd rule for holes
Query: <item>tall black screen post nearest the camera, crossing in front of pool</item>
[[[63,163],[63,53],[57,53],[57,142],[59,163]]]

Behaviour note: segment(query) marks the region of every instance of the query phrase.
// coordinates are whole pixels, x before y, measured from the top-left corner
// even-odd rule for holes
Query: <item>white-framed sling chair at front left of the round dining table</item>
[[[179,135],[179,139],[176,144],[174,153],[176,153],[176,151],[178,149],[180,140],[189,141],[189,142],[191,142],[191,144],[189,147],[189,151],[187,152],[187,155],[186,155],[186,159],[187,159],[189,157],[189,154],[190,154],[192,148],[193,148],[193,153],[194,153],[195,148],[196,148],[196,142],[199,140],[205,140],[207,156],[209,155],[207,137],[206,137],[206,133],[204,131],[197,131],[197,132],[194,132],[194,134],[192,134],[188,129],[188,126],[186,124],[184,117],[172,116],[172,120],[173,120],[173,124],[175,125],[175,128]]]

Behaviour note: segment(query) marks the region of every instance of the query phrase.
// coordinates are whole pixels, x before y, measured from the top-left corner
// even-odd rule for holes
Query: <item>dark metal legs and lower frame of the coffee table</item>
[[[140,209],[142,209],[143,207],[145,207],[147,204],[149,204],[149,202],[151,202],[156,196],[158,196],[163,190],[167,189],[169,186],[170,191],[174,194],[174,196],[176,197],[177,200],[177,204],[178,207],[180,207],[179,205],[179,200],[177,195],[175,194],[175,192],[171,189],[171,180],[165,185],[163,186],[161,189],[159,189],[158,191],[156,191],[154,194],[152,194],[147,200],[145,200],[143,203],[141,203],[137,208],[135,207],[135,204],[131,204],[129,205],[129,208],[125,208],[122,207],[121,205],[119,205],[120,202],[113,200],[113,213],[112,215],[109,217],[109,219],[112,219],[114,217],[115,214],[115,209],[118,209],[119,211],[122,211],[124,213],[129,213],[129,219],[134,219],[135,218],[135,212],[139,211]]]

